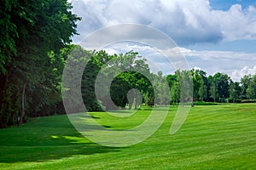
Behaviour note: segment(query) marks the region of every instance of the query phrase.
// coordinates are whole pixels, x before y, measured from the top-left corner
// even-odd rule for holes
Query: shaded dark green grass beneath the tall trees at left
[[[33,118],[22,127],[0,129],[0,162],[54,161],[65,157],[119,151],[91,143],[67,116]]]

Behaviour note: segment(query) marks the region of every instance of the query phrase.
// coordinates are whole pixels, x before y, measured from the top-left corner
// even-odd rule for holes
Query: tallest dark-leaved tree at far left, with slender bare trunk
[[[13,124],[16,116],[22,122],[25,107],[32,106],[26,104],[28,90],[44,84],[49,52],[59,54],[71,42],[79,18],[72,14],[67,0],[1,3],[0,126],[5,127]]]

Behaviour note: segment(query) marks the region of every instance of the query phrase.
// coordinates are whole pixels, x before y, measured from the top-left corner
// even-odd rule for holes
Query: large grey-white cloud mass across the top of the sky
[[[73,1],[79,22],[79,42],[91,31],[120,23],[154,26],[178,44],[256,39],[256,8],[235,4],[212,10],[207,0],[79,0]]]

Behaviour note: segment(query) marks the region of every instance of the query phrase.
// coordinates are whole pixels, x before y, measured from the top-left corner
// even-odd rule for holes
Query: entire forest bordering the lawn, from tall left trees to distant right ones
[[[74,63],[87,63],[81,93],[88,111],[137,109],[142,103],[177,105],[186,96],[193,96],[189,100],[195,104],[256,99],[256,74],[246,75],[240,82],[233,82],[222,72],[207,76],[206,71],[194,69],[164,75],[151,72],[147,59],[137,52],[108,54],[72,44],[72,37],[78,34],[76,22],[81,18],[71,12],[72,6],[65,0],[6,0],[1,1],[0,8],[0,127],[20,125],[32,116],[65,114],[61,78],[67,59],[74,55],[80,59],[73,59]],[[117,74],[111,68],[137,71]],[[114,105],[104,94],[107,82],[97,87],[102,95],[96,98],[100,71],[101,80],[114,75],[109,89]],[[181,93],[181,87],[189,86],[186,78],[193,83],[193,94]]]

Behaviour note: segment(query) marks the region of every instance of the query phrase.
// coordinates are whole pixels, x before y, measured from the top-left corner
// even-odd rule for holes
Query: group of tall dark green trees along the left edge
[[[65,46],[77,34],[67,0],[0,2],[0,127],[59,112]]]

